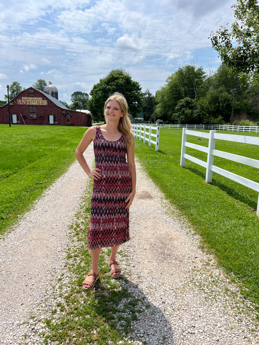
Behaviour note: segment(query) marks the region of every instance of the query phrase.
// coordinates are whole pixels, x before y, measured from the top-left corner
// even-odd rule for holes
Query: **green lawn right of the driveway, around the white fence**
[[[242,282],[243,295],[259,303],[258,193],[215,173],[212,184],[207,184],[205,168],[188,160],[181,168],[181,141],[182,131],[163,129],[159,151],[136,139],[136,155],[168,200],[186,214],[218,263],[234,281]],[[197,141],[197,137],[188,136],[188,141],[207,146],[203,138]],[[259,156],[253,145],[221,141],[216,148],[254,159]],[[206,161],[203,152],[187,148],[187,153]],[[214,164],[259,182],[258,169],[224,159]]]

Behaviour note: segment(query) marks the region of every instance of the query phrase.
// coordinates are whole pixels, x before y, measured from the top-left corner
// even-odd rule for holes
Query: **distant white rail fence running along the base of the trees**
[[[143,126],[143,125],[142,125]],[[156,126],[156,125],[151,125]],[[233,126],[233,125],[157,125],[161,128],[167,129],[192,129],[192,130],[220,130],[220,131],[238,131],[238,132],[253,132],[259,133],[259,126]]]

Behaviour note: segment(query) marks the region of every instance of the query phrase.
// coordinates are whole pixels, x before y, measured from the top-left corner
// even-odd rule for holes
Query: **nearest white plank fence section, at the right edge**
[[[202,138],[208,139],[208,147],[204,147],[197,144],[192,144],[187,142],[187,135],[194,135]],[[255,181],[248,180],[242,176],[236,175],[231,173],[230,171],[224,170],[218,166],[213,165],[214,163],[214,156],[221,157],[228,159],[233,162],[238,162],[242,164],[246,164],[249,166],[253,166],[255,168],[259,168],[259,161],[256,159],[248,158],[239,156],[236,154],[232,154],[229,152],[219,151],[215,149],[216,139],[220,140],[227,140],[232,142],[238,143],[246,143],[246,144],[253,144],[259,145],[259,137],[251,137],[251,136],[244,136],[244,135],[234,135],[234,134],[221,134],[217,133],[216,130],[209,131],[209,133],[199,132],[199,131],[189,131],[183,128],[183,136],[182,136],[182,149],[181,149],[181,166],[185,166],[185,159],[188,159],[196,164],[202,165],[206,168],[206,182],[211,183],[212,181],[212,173],[215,172],[220,174],[230,180],[236,181],[248,188],[251,188],[257,192],[259,192],[259,183]],[[207,153],[207,162],[204,162],[198,158],[190,156],[186,153],[186,148],[194,148],[196,150],[206,152]],[[257,204],[257,215],[259,216],[259,197],[258,197],[258,204]]]

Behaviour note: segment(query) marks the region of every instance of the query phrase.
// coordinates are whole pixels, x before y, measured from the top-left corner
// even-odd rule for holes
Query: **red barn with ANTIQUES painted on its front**
[[[10,100],[11,123],[19,125],[86,126],[91,115],[68,109],[54,97],[34,87],[20,92]],[[9,124],[8,104],[0,107],[0,123]]]

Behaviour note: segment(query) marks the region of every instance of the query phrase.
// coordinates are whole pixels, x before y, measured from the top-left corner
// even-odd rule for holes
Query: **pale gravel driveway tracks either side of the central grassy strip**
[[[93,158],[90,146],[86,160]],[[201,250],[199,236],[138,162],[137,177],[131,240],[121,246],[118,259],[125,278],[121,285],[137,301],[138,320],[117,344],[259,344],[255,306],[244,300],[214,257]],[[86,186],[83,169],[72,164],[1,239],[0,344],[43,344],[44,320],[60,298],[58,279],[69,289],[64,265],[71,245],[69,225]]]

